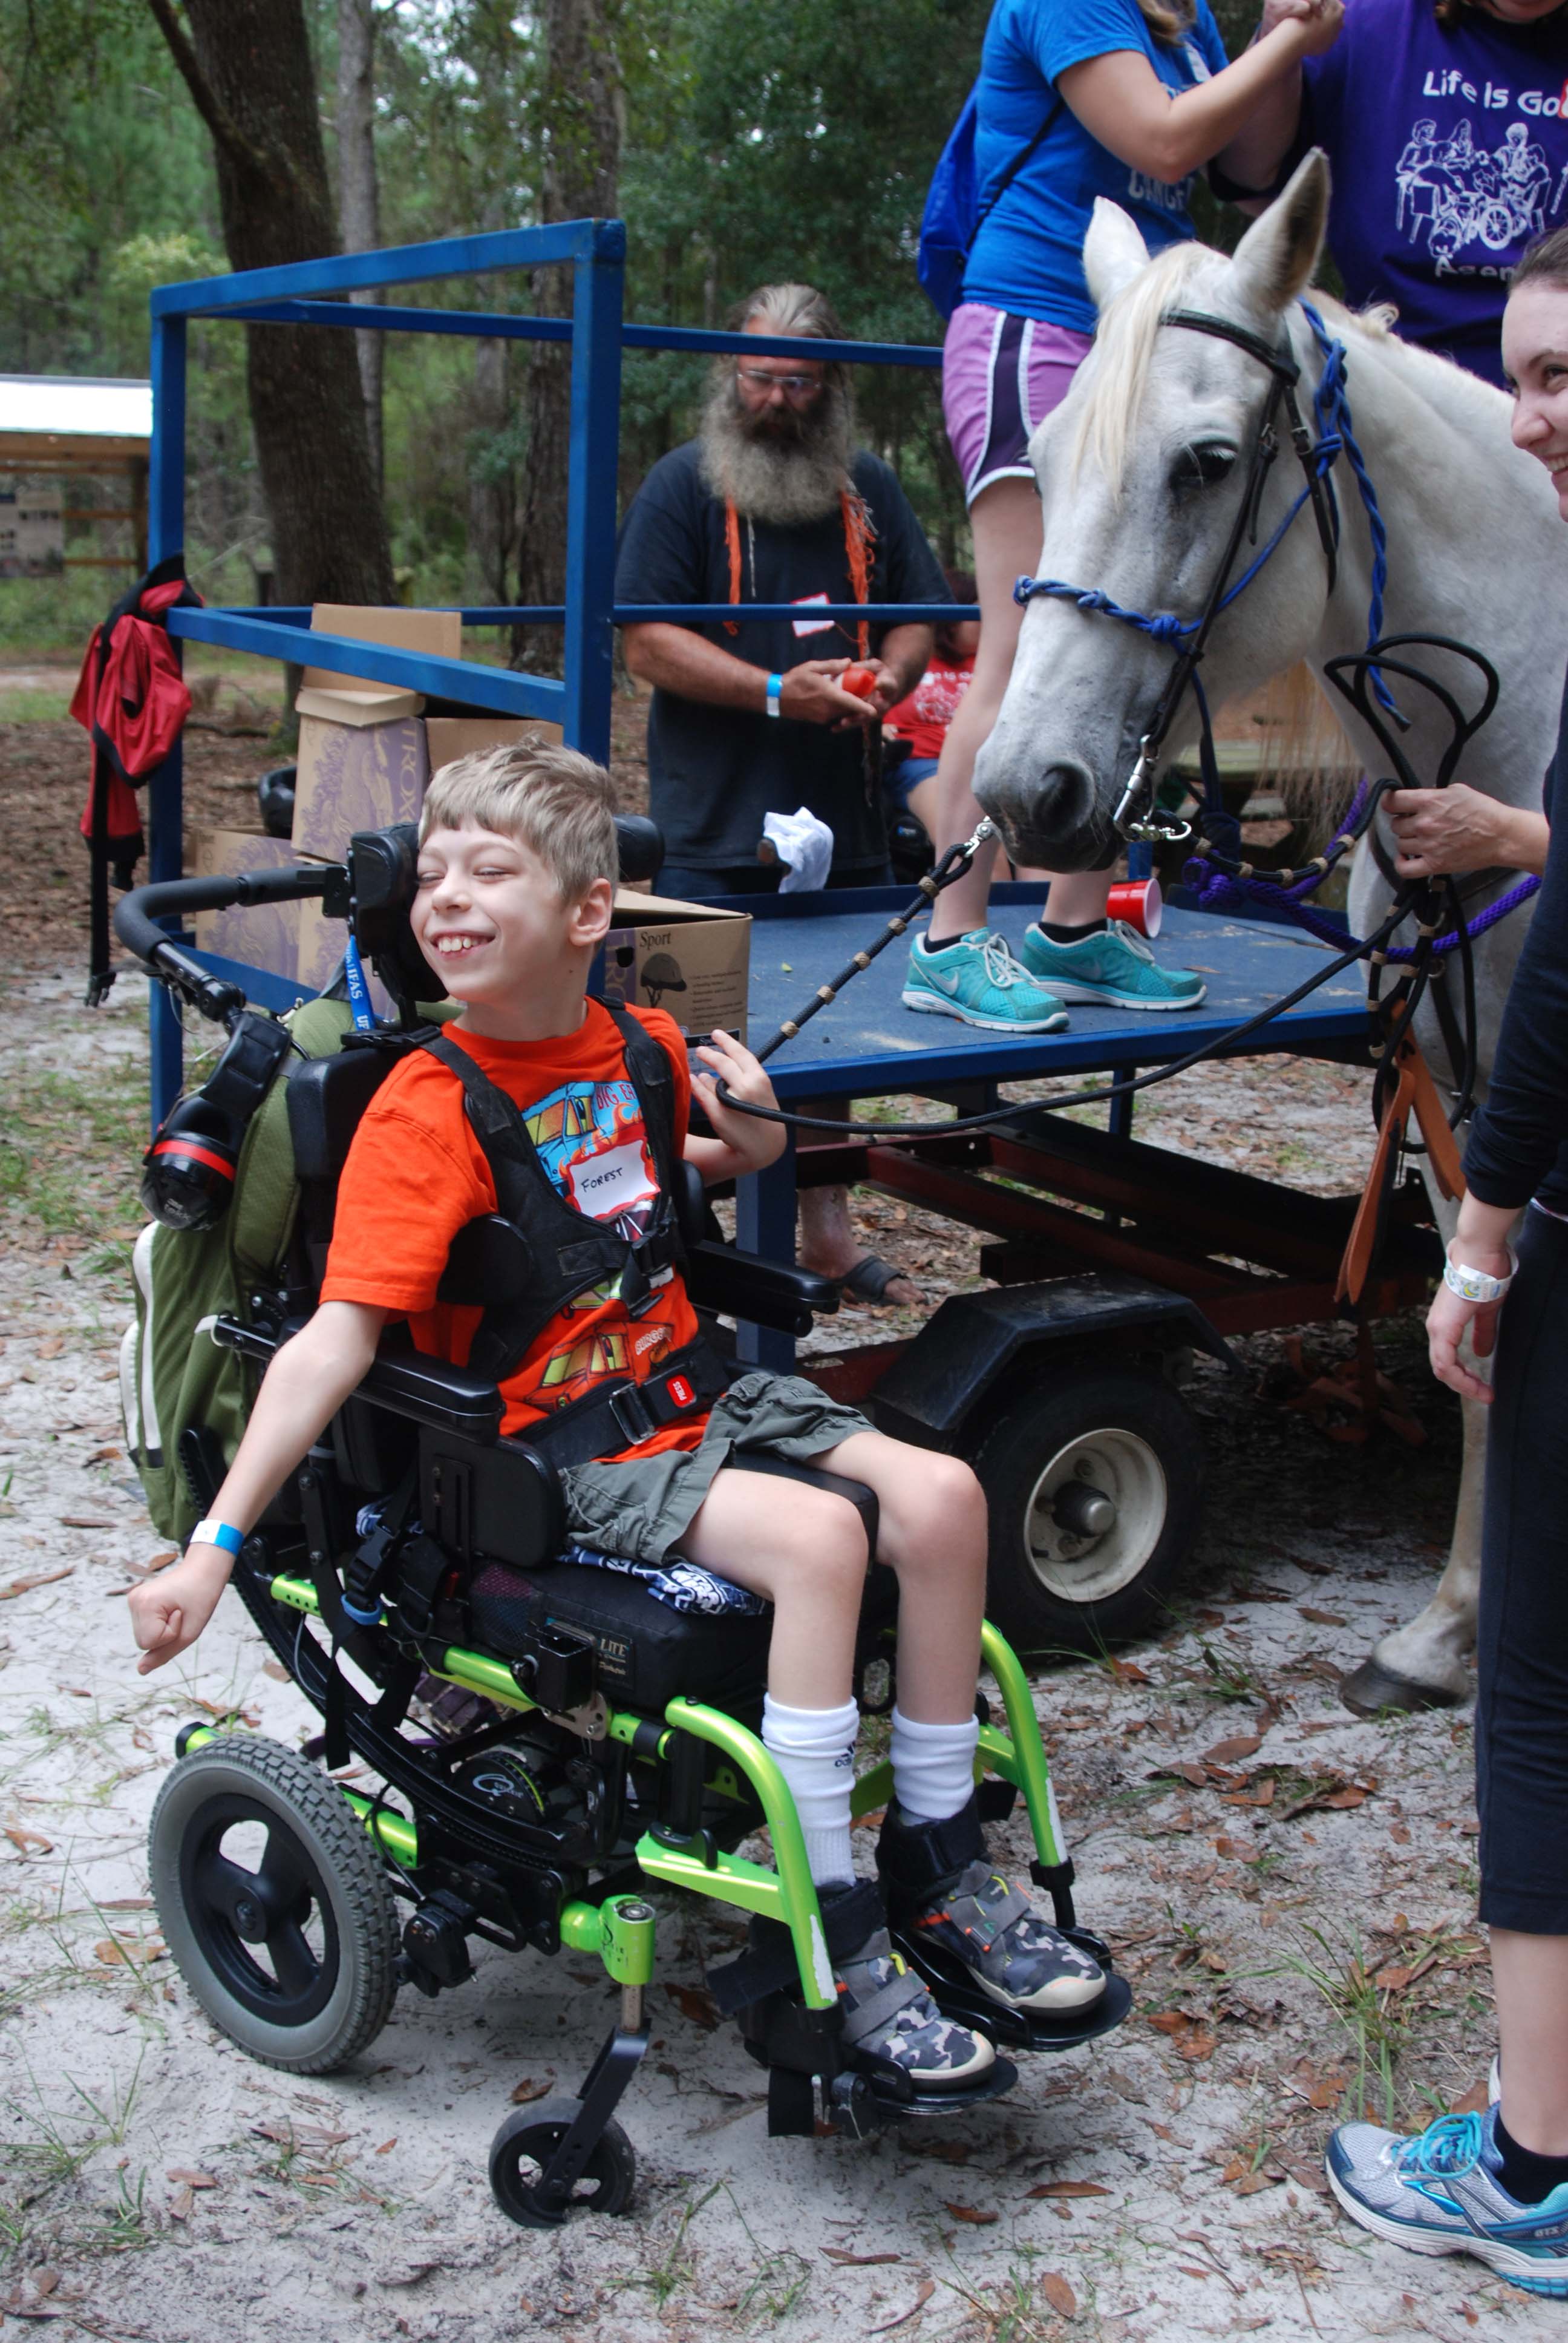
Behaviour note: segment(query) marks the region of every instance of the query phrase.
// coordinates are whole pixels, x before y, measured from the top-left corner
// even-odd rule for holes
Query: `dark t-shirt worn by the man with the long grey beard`
[[[909,511],[893,471],[860,452],[851,478],[865,497],[877,532],[867,579],[872,602],[952,602],[935,553]],[[616,602],[727,602],[729,548],[724,506],[705,487],[701,445],[689,440],[654,464],[621,527]],[[853,602],[844,522],[839,513],[785,530],[741,520],[741,604]],[[680,623],[680,621],[675,621]],[[764,675],[783,675],[806,658],[853,658],[853,626],[797,633],[802,619],[741,619],[736,635],[722,621],[696,633],[745,658]],[[872,647],[886,628],[872,628]],[[860,733],[790,717],[710,708],[673,691],[654,691],[647,719],[649,813],[663,829],[670,862],[696,869],[755,862],[764,813],[809,806],[832,829],[834,872],[886,862],[888,834],[879,804],[867,804]]]

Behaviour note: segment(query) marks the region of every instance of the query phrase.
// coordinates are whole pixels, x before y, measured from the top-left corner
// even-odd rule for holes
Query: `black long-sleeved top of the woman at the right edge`
[[[1486,1106],[1470,1125],[1465,1179],[1481,1204],[1568,1214],[1568,679],[1547,766],[1547,876],[1514,965]]]

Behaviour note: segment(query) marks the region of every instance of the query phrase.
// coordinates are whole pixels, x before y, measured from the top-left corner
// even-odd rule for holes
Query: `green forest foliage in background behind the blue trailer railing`
[[[1221,0],[1230,49],[1256,0]],[[335,5],[312,0],[319,87]],[[722,323],[750,286],[823,286],[851,335],[940,340],[914,276],[930,166],[975,77],[987,0],[621,0],[619,211],[628,314]],[[541,12],[513,0],[391,0],[377,21],[382,237],[420,241],[537,216]],[[227,267],[209,136],[145,0],[0,0],[0,370],[141,375],[155,284]],[[1200,227],[1240,225],[1205,197]],[[532,307],[525,276],[415,298]],[[260,328],[265,330],[265,328]],[[391,335],[384,433],[394,560],[417,600],[488,593],[476,513],[516,525],[527,344]],[[689,436],[705,363],[628,354],[621,490]],[[938,375],[863,368],[865,438],[900,471],[940,553],[963,504]],[[495,518],[499,515],[499,520]],[[244,333],[190,337],[188,558],[204,593],[251,600],[270,562]],[[16,586],[28,583],[19,595]],[[105,574],[0,586],[0,644],[75,642]]]

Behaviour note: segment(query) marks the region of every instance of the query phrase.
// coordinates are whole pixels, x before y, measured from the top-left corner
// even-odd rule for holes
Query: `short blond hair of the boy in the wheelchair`
[[[539,855],[563,902],[581,902],[595,879],[614,886],[614,783],[574,747],[516,740],[443,764],[420,813],[420,846],[431,829],[495,829]]]

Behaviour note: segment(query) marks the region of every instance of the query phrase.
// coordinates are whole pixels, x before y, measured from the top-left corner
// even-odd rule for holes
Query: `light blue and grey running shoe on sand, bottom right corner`
[[[1474,2254],[1526,2294],[1568,2298],[1568,2188],[1516,2205],[1500,2181],[1498,2111],[1439,2116],[1402,2139],[1343,2123],[1329,2139],[1329,2188],[1352,2221],[1411,2254]]]

